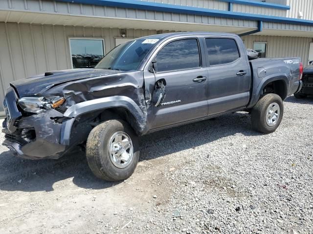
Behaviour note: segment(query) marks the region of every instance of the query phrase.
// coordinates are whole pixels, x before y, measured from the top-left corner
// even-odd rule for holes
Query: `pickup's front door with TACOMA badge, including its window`
[[[149,105],[150,129],[206,117],[207,70],[201,66],[200,43],[196,38],[176,39],[165,44],[157,53],[156,78],[145,72],[145,84],[164,79],[165,98],[159,106]],[[154,85],[150,85],[152,94]]]

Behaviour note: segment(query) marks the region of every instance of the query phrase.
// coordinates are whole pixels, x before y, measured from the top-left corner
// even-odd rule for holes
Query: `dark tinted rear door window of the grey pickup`
[[[210,65],[221,65],[240,58],[237,43],[234,39],[205,39]]]

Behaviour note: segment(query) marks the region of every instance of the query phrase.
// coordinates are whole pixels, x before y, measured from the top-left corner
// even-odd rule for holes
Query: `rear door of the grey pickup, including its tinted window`
[[[209,116],[245,107],[251,85],[245,47],[236,37],[205,38]],[[241,43],[238,43],[241,42]]]

